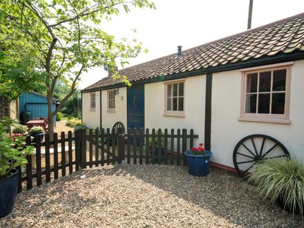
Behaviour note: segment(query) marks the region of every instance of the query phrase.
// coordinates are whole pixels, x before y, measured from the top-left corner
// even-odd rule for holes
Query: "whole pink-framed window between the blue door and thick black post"
[[[164,115],[184,117],[184,80],[165,84]]]

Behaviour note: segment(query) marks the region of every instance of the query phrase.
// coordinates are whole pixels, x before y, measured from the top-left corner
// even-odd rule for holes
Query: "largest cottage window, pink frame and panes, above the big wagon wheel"
[[[243,72],[239,120],[289,124],[290,66]]]

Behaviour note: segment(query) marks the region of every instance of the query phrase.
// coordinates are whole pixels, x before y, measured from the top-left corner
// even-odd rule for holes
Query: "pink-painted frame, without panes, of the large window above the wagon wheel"
[[[289,96],[290,96],[290,77],[291,77],[291,65],[294,62],[287,62],[283,64],[273,64],[269,66],[263,67],[255,67],[240,70],[242,71],[242,94],[241,94],[241,106],[240,106],[240,117],[238,120],[240,121],[251,121],[251,122],[272,122],[272,123],[279,123],[279,124],[290,124],[291,121],[289,120]],[[247,75],[252,73],[261,73],[265,71],[271,71],[271,84],[270,84],[270,91],[265,93],[270,93],[270,110],[272,107],[272,94],[274,93],[282,93],[282,91],[276,92],[272,91],[272,83],[273,83],[273,73],[274,70],[282,70],[286,69],[286,82],[285,82],[285,106],[284,106],[284,114],[265,114],[265,113],[246,113],[246,88],[247,88]],[[259,79],[259,76],[258,76]],[[257,82],[257,86],[259,86],[259,80]],[[254,94],[260,94],[262,92],[257,91]],[[264,93],[264,92],[263,92]],[[258,99],[257,99],[257,106],[258,106]]]

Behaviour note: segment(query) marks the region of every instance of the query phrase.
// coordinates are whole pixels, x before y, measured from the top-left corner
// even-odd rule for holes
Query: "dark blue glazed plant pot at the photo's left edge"
[[[7,216],[14,207],[18,190],[18,171],[11,171],[6,178],[0,178],[0,218]]]

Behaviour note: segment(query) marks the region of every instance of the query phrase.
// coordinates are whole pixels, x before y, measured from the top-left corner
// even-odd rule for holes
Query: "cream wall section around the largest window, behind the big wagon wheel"
[[[211,109],[211,160],[234,167],[234,146],[245,136],[265,134],[280,141],[291,155],[304,160],[304,61],[291,67],[289,120],[291,124],[241,122],[239,70],[213,74]]]

